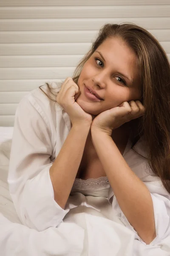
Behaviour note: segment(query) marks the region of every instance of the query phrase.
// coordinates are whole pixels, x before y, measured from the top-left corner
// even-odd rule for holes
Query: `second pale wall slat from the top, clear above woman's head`
[[[168,17],[170,5],[1,7],[0,18]]]

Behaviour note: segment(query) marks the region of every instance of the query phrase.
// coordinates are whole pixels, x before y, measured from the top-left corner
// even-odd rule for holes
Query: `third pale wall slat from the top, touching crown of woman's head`
[[[2,19],[0,31],[98,30],[104,23],[131,22],[145,29],[170,29],[170,17],[87,19]]]

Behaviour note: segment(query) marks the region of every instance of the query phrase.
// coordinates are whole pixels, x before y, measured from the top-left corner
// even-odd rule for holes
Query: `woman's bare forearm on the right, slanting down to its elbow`
[[[118,204],[146,244],[155,238],[153,201],[149,190],[122,157],[112,138],[91,131],[92,141]]]

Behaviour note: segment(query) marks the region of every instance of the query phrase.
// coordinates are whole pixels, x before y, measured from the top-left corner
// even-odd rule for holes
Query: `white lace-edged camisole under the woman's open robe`
[[[130,148],[131,140],[129,138],[123,156],[130,150]],[[71,189],[71,194],[79,192],[83,195],[102,196],[107,198],[109,188],[110,183],[107,176],[99,177],[97,179],[91,178],[88,180],[75,179]]]

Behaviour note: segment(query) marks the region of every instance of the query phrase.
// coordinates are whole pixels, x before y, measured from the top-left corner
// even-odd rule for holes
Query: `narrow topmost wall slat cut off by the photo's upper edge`
[[[169,0],[0,0],[0,6],[164,5]]]

